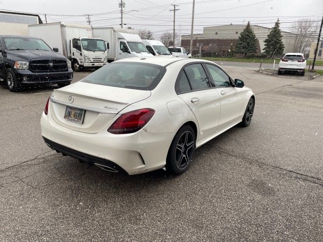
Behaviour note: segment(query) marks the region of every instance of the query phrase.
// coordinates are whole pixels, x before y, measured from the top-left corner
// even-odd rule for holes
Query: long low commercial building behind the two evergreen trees
[[[260,54],[263,52],[264,40],[272,29],[259,25],[250,26],[258,40],[256,54]],[[210,55],[215,51],[216,56],[230,56],[230,52],[234,49],[235,43],[245,27],[246,25],[236,24],[204,27],[202,34],[193,34],[194,53],[196,53],[199,46],[201,46],[202,53],[205,52]],[[281,32],[283,35],[283,43],[285,45],[284,52],[292,52],[296,34],[286,31]],[[191,36],[182,35],[181,37],[181,45],[189,49]]]

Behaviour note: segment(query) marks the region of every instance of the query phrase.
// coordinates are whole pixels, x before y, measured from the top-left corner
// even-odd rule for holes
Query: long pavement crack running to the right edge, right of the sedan
[[[279,167],[279,166],[276,166],[276,165],[266,164],[266,163],[261,162],[259,160],[253,160],[253,159],[241,156],[241,155],[231,154],[231,153],[229,153],[227,151],[224,151],[224,150],[216,149],[216,151],[218,153],[220,153],[220,154],[223,153],[223,154],[230,155],[232,157],[242,159],[242,160],[244,160],[244,161],[246,161],[248,163],[256,163],[261,167],[270,168],[271,170],[275,171],[276,173],[287,175],[289,177],[296,178],[296,179],[306,180],[306,181],[309,181],[310,183],[313,183],[313,184],[316,184],[316,185],[319,185],[319,186],[323,187],[323,179],[321,179],[319,177],[303,174],[303,173],[300,173],[300,172],[297,172],[297,171],[294,171],[294,170],[290,170],[290,169],[286,169],[286,168],[282,168],[282,167]],[[283,172],[280,172],[280,171],[283,171]]]

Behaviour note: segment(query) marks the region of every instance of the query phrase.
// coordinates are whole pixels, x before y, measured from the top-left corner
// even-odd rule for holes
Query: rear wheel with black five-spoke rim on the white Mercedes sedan
[[[184,173],[194,156],[195,132],[189,125],[183,126],[175,135],[167,154],[166,170],[171,174]]]

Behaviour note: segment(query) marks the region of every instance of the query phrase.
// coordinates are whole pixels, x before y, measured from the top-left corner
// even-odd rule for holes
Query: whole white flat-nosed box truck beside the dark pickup
[[[44,40],[56,47],[72,62],[73,71],[98,69],[108,63],[107,43],[93,38],[91,25],[50,23],[29,25],[29,36]]]

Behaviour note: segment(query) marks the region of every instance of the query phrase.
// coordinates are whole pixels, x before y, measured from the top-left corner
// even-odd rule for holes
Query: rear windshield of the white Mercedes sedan
[[[82,82],[137,90],[154,89],[166,68],[148,63],[115,62],[93,72]]]

